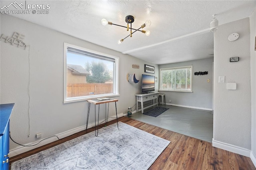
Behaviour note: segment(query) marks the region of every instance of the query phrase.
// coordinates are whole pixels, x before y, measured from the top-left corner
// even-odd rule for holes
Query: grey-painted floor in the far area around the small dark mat
[[[212,111],[191,109],[159,104],[160,107],[170,108],[158,117],[138,113],[132,114],[132,119],[155,125],[173,132],[185,134],[200,140],[212,142],[213,115]],[[147,110],[152,109],[152,107]],[[144,113],[147,111],[145,110]]]

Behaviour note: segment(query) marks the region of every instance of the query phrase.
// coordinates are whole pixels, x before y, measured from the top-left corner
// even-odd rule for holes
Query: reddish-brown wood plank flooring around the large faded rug
[[[118,121],[170,141],[170,144],[162,154],[150,166],[150,170],[256,170],[250,158],[215,148],[210,142],[185,136],[128,117],[121,117]],[[113,123],[116,123],[116,121],[110,121],[108,125]],[[100,125],[100,127],[103,126]],[[94,128],[90,128],[51,144],[14,156],[10,158],[10,166],[16,160],[46,150],[93,130]]]

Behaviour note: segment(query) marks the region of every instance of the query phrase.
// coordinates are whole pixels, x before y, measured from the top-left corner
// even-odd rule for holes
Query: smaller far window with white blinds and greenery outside
[[[192,92],[192,65],[160,69],[160,91]]]

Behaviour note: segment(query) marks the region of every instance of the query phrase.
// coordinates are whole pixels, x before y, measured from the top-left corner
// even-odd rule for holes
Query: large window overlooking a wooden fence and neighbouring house
[[[64,43],[64,103],[119,95],[119,58]]]

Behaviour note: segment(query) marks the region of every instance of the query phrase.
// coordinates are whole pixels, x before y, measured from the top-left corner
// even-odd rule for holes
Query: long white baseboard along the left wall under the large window
[[[123,113],[120,113],[120,114],[117,115],[117,117],[118,118],[123,117],[123,115],[124,115]],[[108,118],[108,121],[112,121],[112,120],[115,120],[115,119],[116,118],[113,116],[113,117]],[[99,122],[102,122],[102,121],[104,121],[104,119],[99,120]],[[103,123],[105,123],[105,122],[103,122]],[[87,128],[91,128],[91,127],[94,127],[94,126],[95,126],[95,123],[93,122],[93,123],[88,124]],[[62,132],[62,133],[55,134],[55,135],[58,136],[58,138],[62,139],[62,138],[65,138],[67,136],[70,136],[72,134],[75,134],[77,132],[81,132],[82,130],[86,130],[86,125],[83,125],[83,126],[77,127],[77,128],[73,128],[73,129],[67,130],[66,132]],[[35,148],[39,148],[40,146],[44,146],[46,144],[49,144],[51,142],[54,142],[54,141],[58,140],[58,138],[53,136],[52,138],[45,139],[42,142],[40,142],[41,140],[38,140],[36,142],[30,142],[30,143],[24,144],[24,145],[34,145],[34,144],[37,144],[38,142],[40,142],[39,144],[37,144],[35,146],[29,146],[29,147],[28,146],[18,146],[16,148],[10,150],[10,157],[16,156],[18,154],[22,154],[24,152],[27,152],[29,150],[33,150]]]

